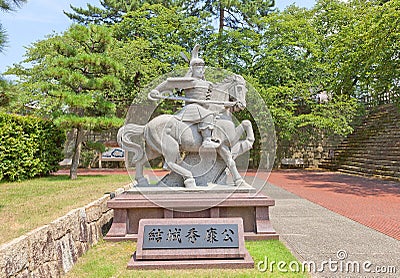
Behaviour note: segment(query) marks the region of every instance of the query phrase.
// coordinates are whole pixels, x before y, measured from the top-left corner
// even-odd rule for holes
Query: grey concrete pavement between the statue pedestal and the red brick
[[[312,277],[400,277],[399,240],[280,186],[264,191],[276,200],[272,225]]]

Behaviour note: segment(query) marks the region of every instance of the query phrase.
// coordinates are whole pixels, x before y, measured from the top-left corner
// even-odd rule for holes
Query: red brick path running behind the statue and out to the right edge
[[[157,176],[165,171],[156,170]],[[126,174],[125,169],[80,170],[81,175]],[[57,174],[68,174],[62,170]],[[251,175],[251,173],[249,173]],[[273,171],[268,182],[400,240],[400,182],[363,178],[337,172]]]

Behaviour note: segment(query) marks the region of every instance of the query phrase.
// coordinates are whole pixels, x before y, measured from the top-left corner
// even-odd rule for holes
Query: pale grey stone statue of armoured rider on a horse
[[[205,80],[205,63],[198,57],[199,48],[194,47],[185,76],[167,78],[148,94],[153,101],[184,101],[182,109],[174,115],[157,116],[145,125],[125,124],[118,131],[118,143],[133,154],[130,163],[136,168],[137,186],[149,186],[143,175],[144,165],[160,156],[186,188],[200,187],[199,175],[210,184],[224,183],[221,176],[227,170],[234,186],[246,184],[235,159],[252,148],[253,128],[249,120],[238,126],[232,120],[233,112],[246,107],[246,81],[237,74],[229,74],[215,84]],[[245,138],[241,139],[244,133]],[[143,136],[144,147],[132,139],[137,136]],[[214,167],[216,163],[219,168]],[[194,173],[195,168],[201,169],[201,174],[199,170]],[[166,179],[164,184],[168,183]]]

